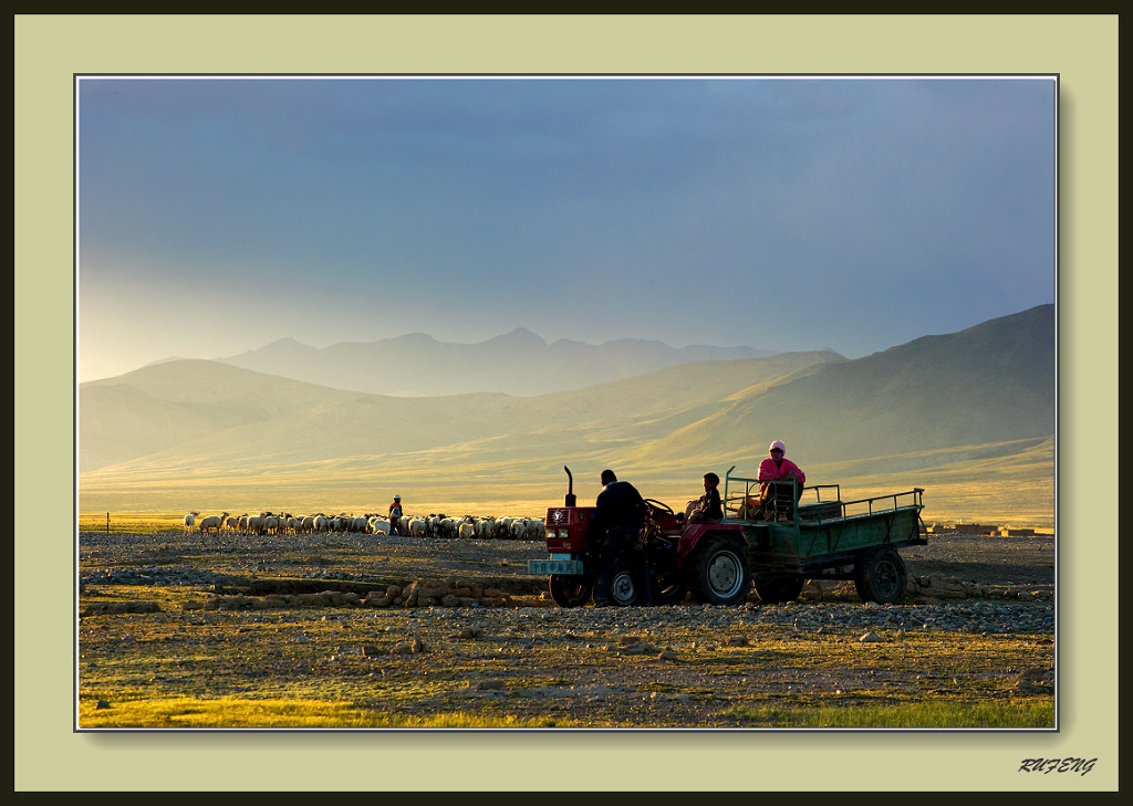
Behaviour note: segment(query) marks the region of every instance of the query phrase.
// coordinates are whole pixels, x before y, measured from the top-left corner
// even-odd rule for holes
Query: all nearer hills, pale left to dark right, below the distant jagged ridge
[[[806,464],[866,472],[870,458],[910,456],[911,466],[931,466],[934,452],[962,460],[977,446],[973,460],[987,458],[978,446],[1030,449],[1050,437],[1054,350],[1054,307],[1040,306],[857,360],[816,352],[704,361],[534,397],[370,395],[174,361],[80,385],[79,471],[442,474],[461,463],[561,466],[574,456],[697,478],[690,469],[758,460],[773,438]]]

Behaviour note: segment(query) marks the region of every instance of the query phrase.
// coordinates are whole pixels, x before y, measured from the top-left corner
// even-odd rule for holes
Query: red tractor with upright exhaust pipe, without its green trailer
[[[548,574],[551,598],[560,607],[631,606],[641,601],[628,557],[599,559],[588,545],[595,507],[578,506],[570,480],[563,506],[550,507],[546,542],[550,558],[530,560],[533,574]],[[684,513],[646,498],[648,515],[638,540],[644,548],[655,604],[675,604],[685,595],[708,604],[735,604],[751,588],[748,540],[739,524],[685,523]]]

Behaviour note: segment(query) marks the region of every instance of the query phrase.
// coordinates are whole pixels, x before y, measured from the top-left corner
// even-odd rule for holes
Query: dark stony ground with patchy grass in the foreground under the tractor
[[[895,606],[825,582],[787,604],[730,608],[555,607],[527,573],[542,541],[82,533],[78,549],[80,695],[84,679],[109,691],[105,670],[133,666],[114,685],[155,695],[269,696],[278,678],[280,696],[342,688],[402,715],[704,727],[742,726],[783,697],[1054,691],[1050,537],[930,537],[902,551],[910,592]],[[162,674],[143,646],[160,648]],[[236,660],[218,662],[225,653]]]

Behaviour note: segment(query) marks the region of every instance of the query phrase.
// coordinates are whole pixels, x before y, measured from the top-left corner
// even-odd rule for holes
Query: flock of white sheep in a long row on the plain
[[[414,538],[469,538],[478,540],[543,540],[540,517],[479,517],[465,515],[406,516],[402,531]],[[262,512],[257,515],[206,515],[190,512],[185,516],[185,533],[215,534],[314,534],[352,532],[389,534],[390,521],[381,515],[291,515]]]

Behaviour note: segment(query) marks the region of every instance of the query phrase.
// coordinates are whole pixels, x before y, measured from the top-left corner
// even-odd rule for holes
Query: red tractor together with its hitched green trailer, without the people
[[[570,478],[570,469],[563,470]],[[757,513],[764,482],[733,477],[732,470],[724,479],[723,522],[685,523],[683,513],[646,499],[637,539],[654,602],[673,604],[691,593],[701,603],[735,604],[750,588],[764,603],[787,602],[807,580],[852,580],[862,601],[881,604],[905,595],[908,571],[897,551],[928,542],[922,488],[843,500],[840,485],[815,485],[806,488],[813,503],[803,504],[793,479],[773,481],[767,483],[790,486],[782,498],[792,504],[768,518]],[[642,602],[632,552],[599,557],[589,545],[594,514],[595,507],[578,506],[568,491],[563,506],[547,509],[551,557],[530,560],[528,569],[551,575],[551,597],[562,607],[580,607],[591,597],[596,604]]]

